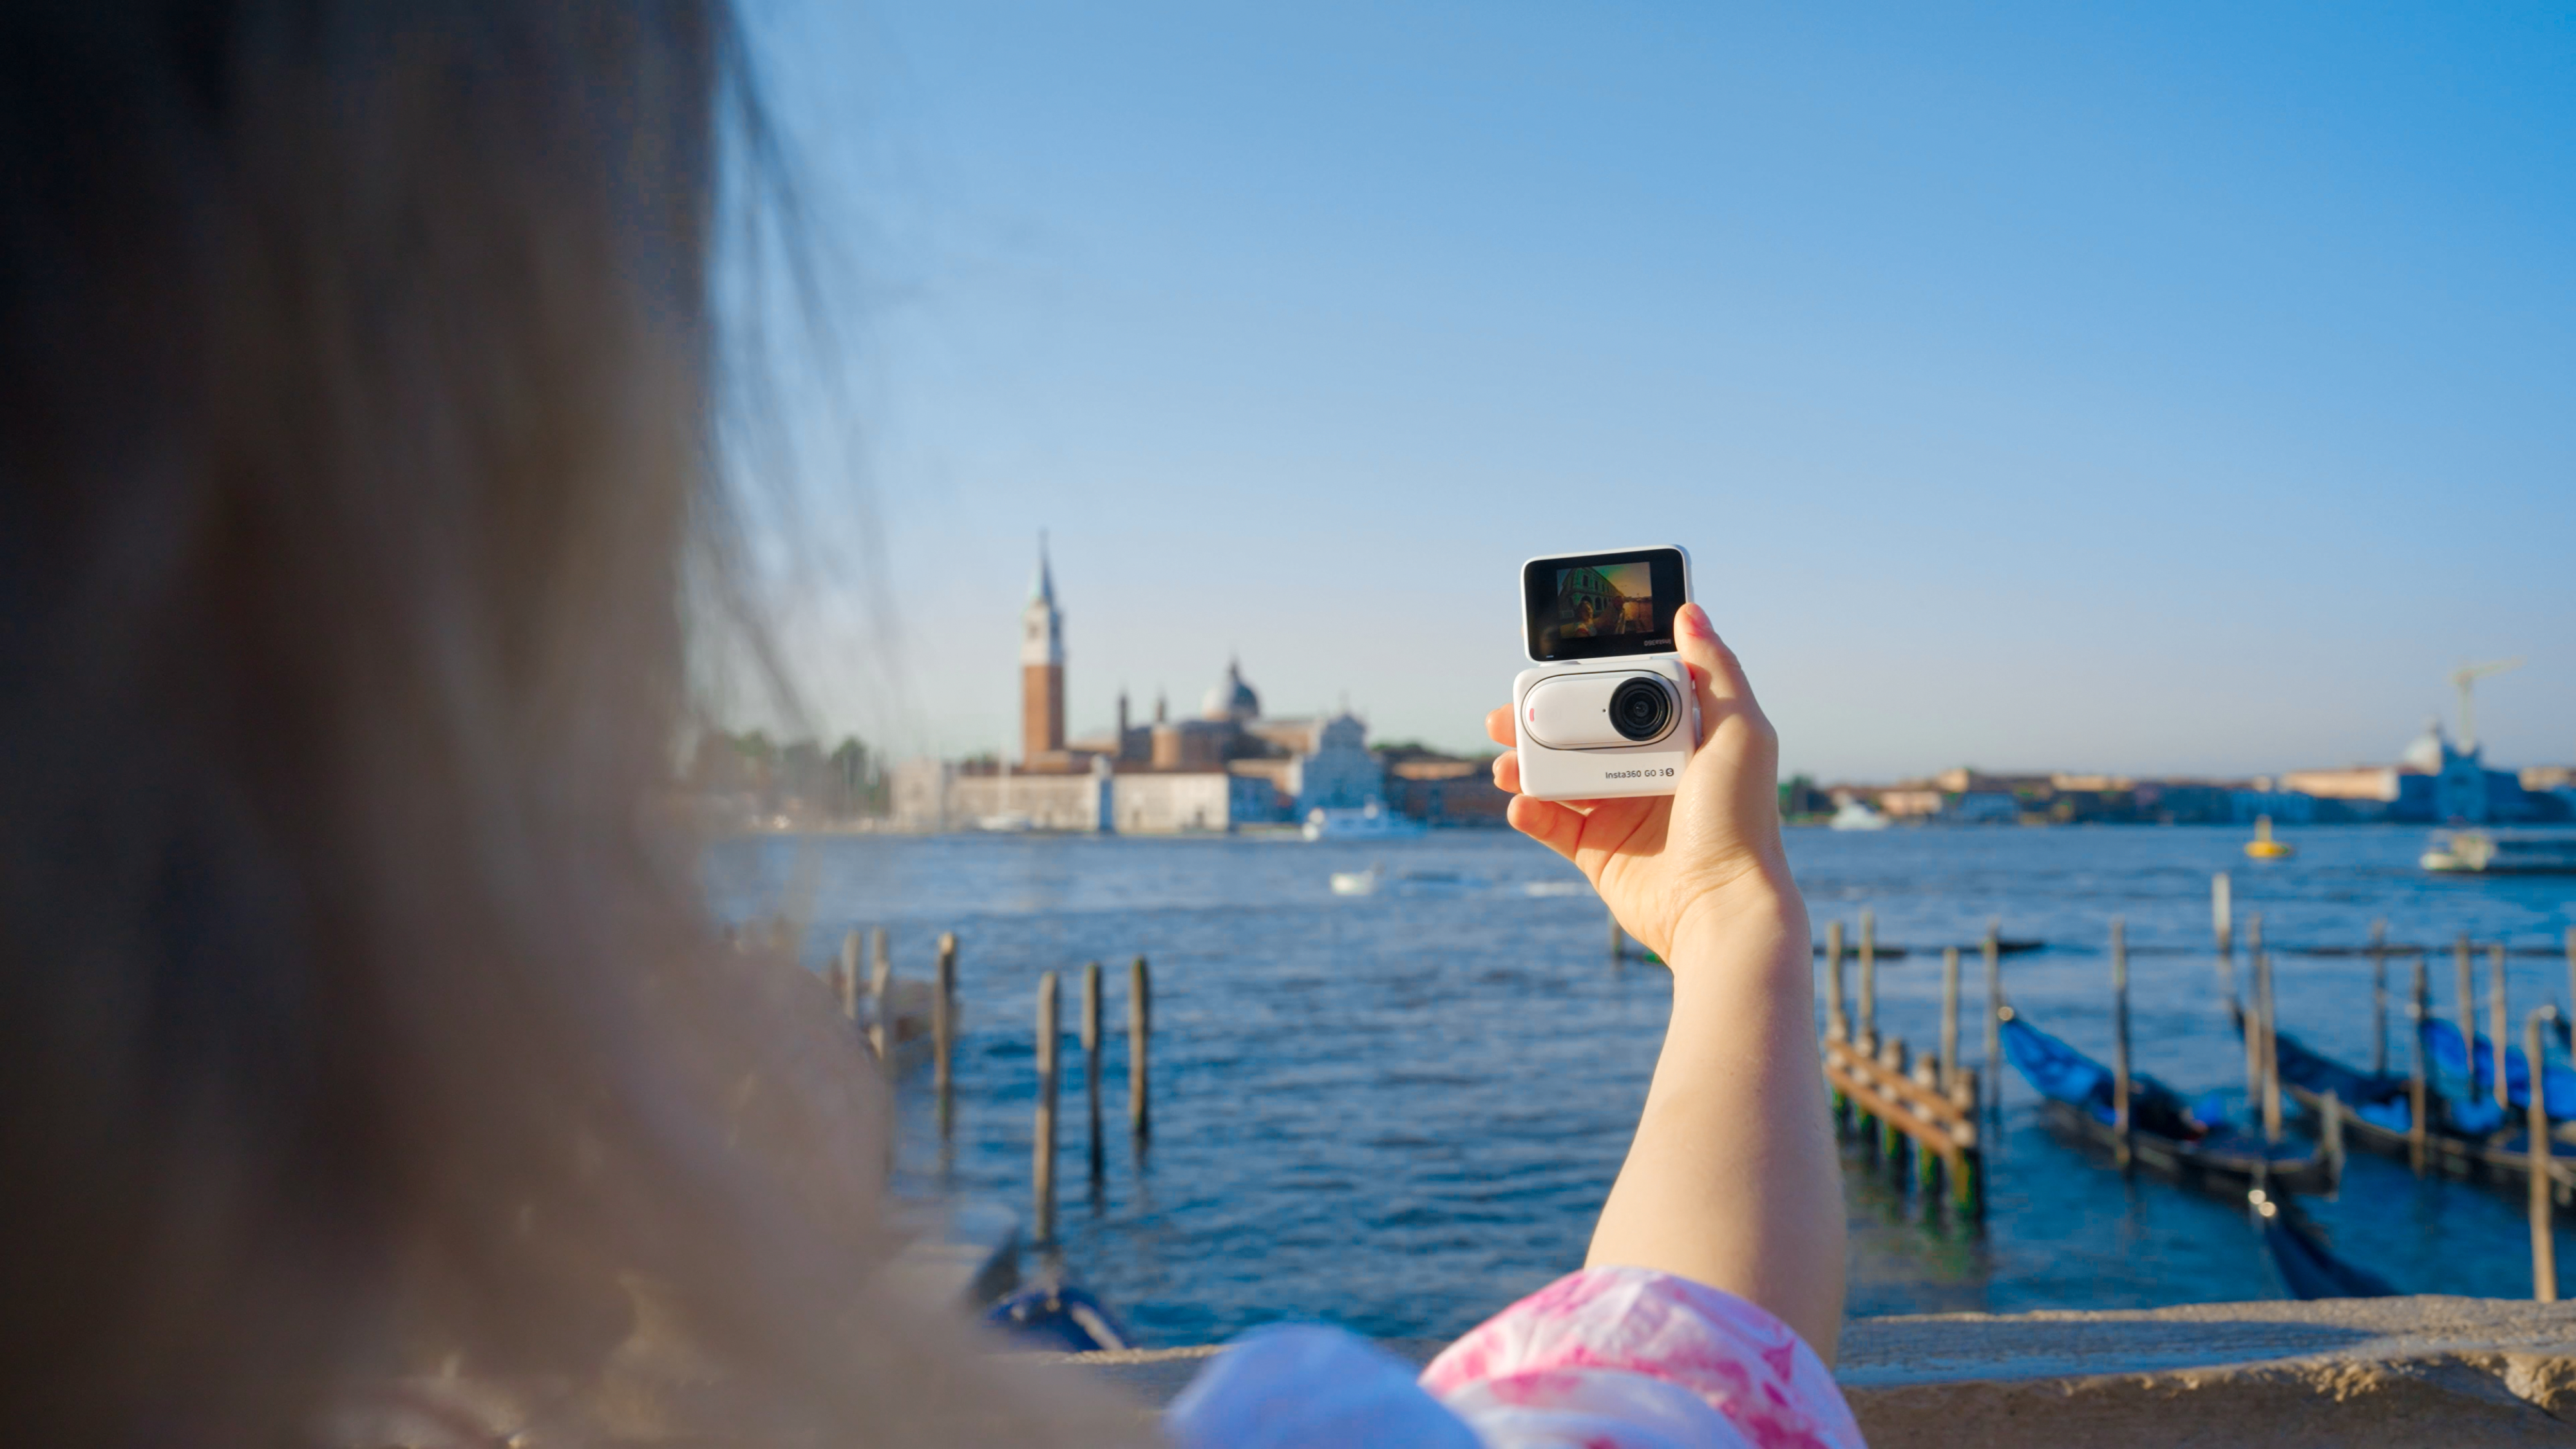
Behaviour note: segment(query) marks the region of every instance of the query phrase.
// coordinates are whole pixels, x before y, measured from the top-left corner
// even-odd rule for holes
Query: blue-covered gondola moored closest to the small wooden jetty
[[[2045,1098],[2050,1127],[2120,1150],[2110,1067],[2022,1021],[2009,1006],[2002,1011],[1999,1034],[2004,1057]],[[2259,1132],[2221,1122],[2215,1111],[2195,1111],[2182,1093],[2148,1075],[2128,1078],[2128,1122],[2133,1160],[2187,1186],[2228,1196],[2254,1183],[2269,1191],[2326,1194],[2342,1178],[2342,1160],[2334,1152],[2267,1145]]]

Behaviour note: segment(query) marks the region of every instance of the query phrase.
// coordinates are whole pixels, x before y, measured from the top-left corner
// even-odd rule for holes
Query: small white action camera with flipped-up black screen
[[[1674,652],[1690,603],[1677,547],[1551,554],[1520,565],[1522,642],[1538,668],[1512,681],[1520,794],[1672,794],[1700,748],[1700,696]]]

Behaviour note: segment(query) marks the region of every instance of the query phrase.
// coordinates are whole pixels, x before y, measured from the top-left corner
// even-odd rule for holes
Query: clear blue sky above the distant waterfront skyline
[[[1239,652],[1471,745],[1522,557],[1680,541],[1819,776],[2383,761],[2496,655],[2491,758],[2576,758],[2563,5],[752,28],[835,730],[1010,740],[1046,529],[1077,732]]]

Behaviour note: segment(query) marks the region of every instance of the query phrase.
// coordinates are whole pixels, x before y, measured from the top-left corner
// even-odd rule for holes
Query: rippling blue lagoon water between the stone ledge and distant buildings
[[[2007,957],[2035,1024],[2110,1055],[2110,918],[2128,920],[2138,1070],[2241,1101],[2244,1057],[2210,957],[2210,874],[2233,871],[2239,931],[2357,946],[2555,946],[2576,879],[2434,879],[2419,830],[2282,830],[2293,861],[2251,864],[2244,830],[1790,830],[1819,941],[1878,915],[1878,1018],[1937,1039],[1940,957],[1986,918],[2045,951]],[[1386,887],[1337,897],[1332,871],[1383,864]],[[809,918],[809,962],[850,926],[886,926],[896,975],[927,977],[958,936],[956,1122],[943,1140],[927,1067],[902,1083],[899,1186],[1028,1212],[1036,982],[1064,975],[1064,1269],[1151,1343],[1200,1343],[1309,1318],[1370,1336],[1453,1336],[1577,1269],[1636,1127],[1669,1011],[1659,967],[1607,962],[1600,900],[1553,853],[1510,833],[1394,843],[1278,838],[832,835],[750,838],[711,853],[729,918]],[[1404,879],[1417,877],[1417,879]],[[1126,1134],[1126,962],[1154,964],[1154,1137]],[[1087,1171],[1079,969],[1108,967],[1108,1152]],[[2483,957],[2481,957],[2483,972]],[[2280,1021],[2370,1065],[2365,957],[2282,954]],[[2432,962],[2450,1013],[2450,957]],[[2514,1021],[2568,1000],[2568,967],[2514,957]],[[2403,1067],[2403,964],[2391,967]],[[1819,1008],[1821,1008],[1819,990]],[[1973,1062],[1981,964],[1965,972]],[[2483,1021],[2483,1018],[2481,1018]],[[1984,1230],[1922,1220],[1847,1160],[1855,1315],[2148,1307],[2280,1297],[2244,1209],[2151,1178],[2123,1181],[2050,1137],[2004,1070]],[[2311,1204],[2336,1248],[2406,1292],[2530,1294],[2519,1189],[2416,1181],[2354,1155],[2344,1191]],[[2576,1261],[2576,1240],[2561,1245]]]

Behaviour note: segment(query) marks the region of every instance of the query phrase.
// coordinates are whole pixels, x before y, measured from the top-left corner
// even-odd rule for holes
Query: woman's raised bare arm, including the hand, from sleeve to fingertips
[[[1672,967],[1672,1026],[1589,1266],[1680,1274],[1762,1305],[1829,1364],[1842,1330],[1842,1171],[1816,1057],[1806,905],[1780,848],[1780,748],[1698,603],[1674,619],[1700,748],[1654,799],[1512,799]],[[1512,743],[1512,712],[1486,719]],[[1494,761],[1520,789],[1520,763]]]

